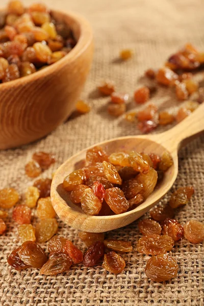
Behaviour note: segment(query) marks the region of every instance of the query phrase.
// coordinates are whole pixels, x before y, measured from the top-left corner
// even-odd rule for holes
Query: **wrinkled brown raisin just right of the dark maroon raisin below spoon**
[[[102,267],[108,272],[118,274],[125,268],[125,261],[114,251],[104,255],[104,262]]]

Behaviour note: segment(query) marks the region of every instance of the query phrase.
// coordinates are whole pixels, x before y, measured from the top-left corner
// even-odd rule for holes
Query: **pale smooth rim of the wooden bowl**
[[[0,11],[3,11],[3,9]],[[50,12],[60,14],[64,17],[68,16],[70,19],[74,21],[74,23],[78,24],[79,29],[80,29],[80,36],[79,36],[77,43],[70,50],[70,52],[65,57],[60,59],[58,62],[52,65],[49,65],[45,67],[44,69],[38,70],[30,75],[27,75],[26,77],[21,77],[13,81],[1,83],[0,91],[9,89],[11,86],[18,87],[20,85],[29,84],[38,79],[47,77],[48,74],[52,74],[54,71],[60,68],[63,68],[65,63],[67,62],[71,63],[75,59],[80,57],[85,52],[85,50],[88,48],[88,46],[92,43],[93,31],[92,31],[90,23],[83,16],[81,16],[78,13],[74,13],[72,11],[62,12],[62,11],[51,9]]]

